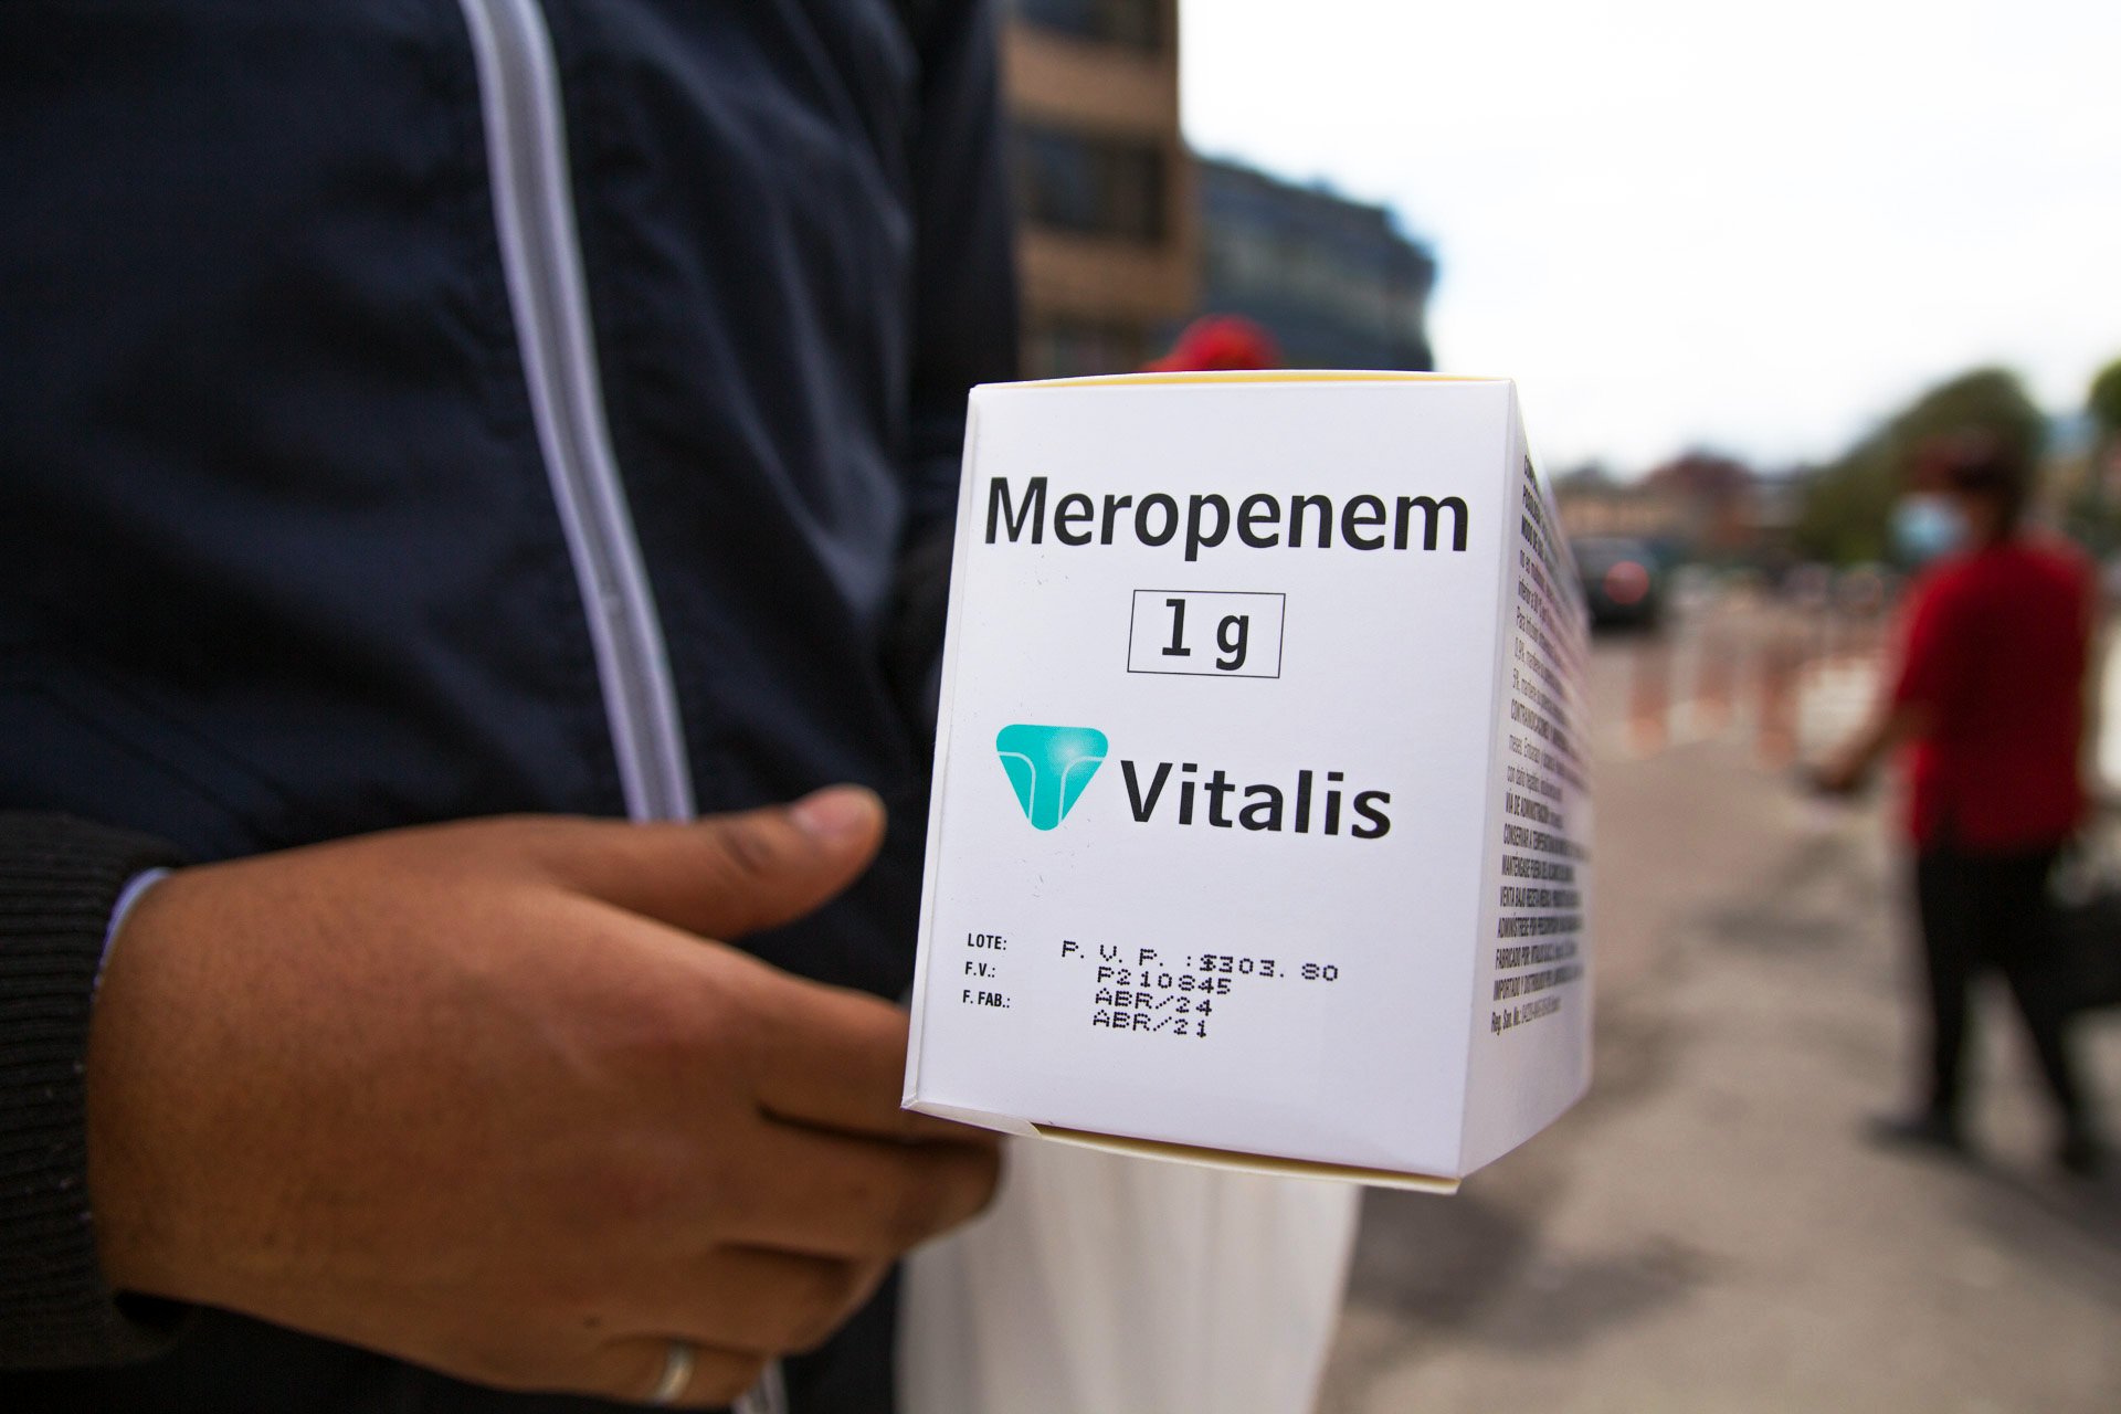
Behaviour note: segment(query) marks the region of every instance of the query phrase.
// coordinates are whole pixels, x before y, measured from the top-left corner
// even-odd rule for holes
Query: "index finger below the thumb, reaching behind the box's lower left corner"
[[[980,1143],[974,1130],[899,1107],[908,1018],[846,988],[787,977],[764,988],[759,1107],[776,1119],[882,1138]]]

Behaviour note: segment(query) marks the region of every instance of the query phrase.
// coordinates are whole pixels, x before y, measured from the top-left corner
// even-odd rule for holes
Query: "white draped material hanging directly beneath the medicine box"
[[[914,1253],[908,1414],[1304,1414],[1360,1189],[1010,1141],[995,1206]]]

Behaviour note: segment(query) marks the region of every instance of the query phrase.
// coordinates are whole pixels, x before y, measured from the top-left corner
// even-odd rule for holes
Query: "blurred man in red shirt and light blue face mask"
[[[2059,1111],[2057,1162],[2089,1174],[2102,1145],[2066,1035],[2047,876],[2085,814],[2079,776],[2085,664],[2096,615],[2089,564],[2021,532],[2023,456],[1981,432],[1928,443],[1896,517],[1934,560],[1909,591],[1879,717],[1820,772],[1856,791],[1911,746],[1909,833],[1930,1022],[1928,1096],[1875,1121],[1883,1141],[1964,1149],[1962,1068],[1970,984],[1996,969],[2026,1020]]]

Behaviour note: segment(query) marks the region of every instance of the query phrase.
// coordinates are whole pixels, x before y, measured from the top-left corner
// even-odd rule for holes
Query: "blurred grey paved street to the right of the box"
[[[1981,1157],[1862,1136],[1911,1100],[1894,799],[1805,799],[1788,761],[1854,725],[1875,659],[1703,704],[1699,621],[1667,638],[1593,661],[1591,1096],[1455,1198],[1366,1194],[1321,1414],[2121,1408],[2121,1177],[2049,1164],[2000,992]],[[2083,1047],[2115,1132],[2121,1013]]]

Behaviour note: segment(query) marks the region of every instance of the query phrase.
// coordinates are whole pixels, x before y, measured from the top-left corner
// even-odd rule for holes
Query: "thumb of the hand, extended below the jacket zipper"
[[[791,806],[687,825],[600,825],[547,863],[592,899],[732,939],[823,905],[867,869],[882,839],[874,791],[827,786]]]

